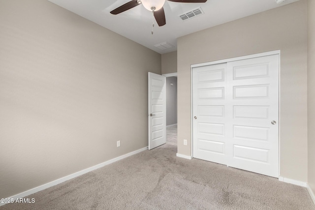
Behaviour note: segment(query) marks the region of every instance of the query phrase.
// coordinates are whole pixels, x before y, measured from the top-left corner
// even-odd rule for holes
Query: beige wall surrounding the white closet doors
[[[190,64],[281,50],[280,172],[307,181],[306,11],[301,0],[178,38],[178,153],[191,149]]]

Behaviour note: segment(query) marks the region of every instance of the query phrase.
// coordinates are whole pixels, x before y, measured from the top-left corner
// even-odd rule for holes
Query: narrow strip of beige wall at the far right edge
[[[308,182],[315,194],[315,1],[308,0]]]

